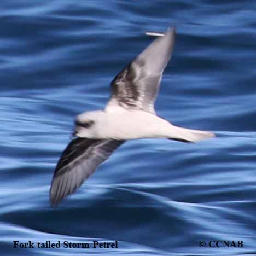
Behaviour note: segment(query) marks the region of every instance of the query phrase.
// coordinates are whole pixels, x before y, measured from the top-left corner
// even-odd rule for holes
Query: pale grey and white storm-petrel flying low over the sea
[[[57,162],[51,182],[52,206],[74,193],[127,140],[166,138],[195,143],[215,136],[210,131],[175,126],[156,114],[154,102],[171,59],[176,28],[148,35],[156,38],[110,83],[112,95],[106,107],[77,116],[74,138]]]

